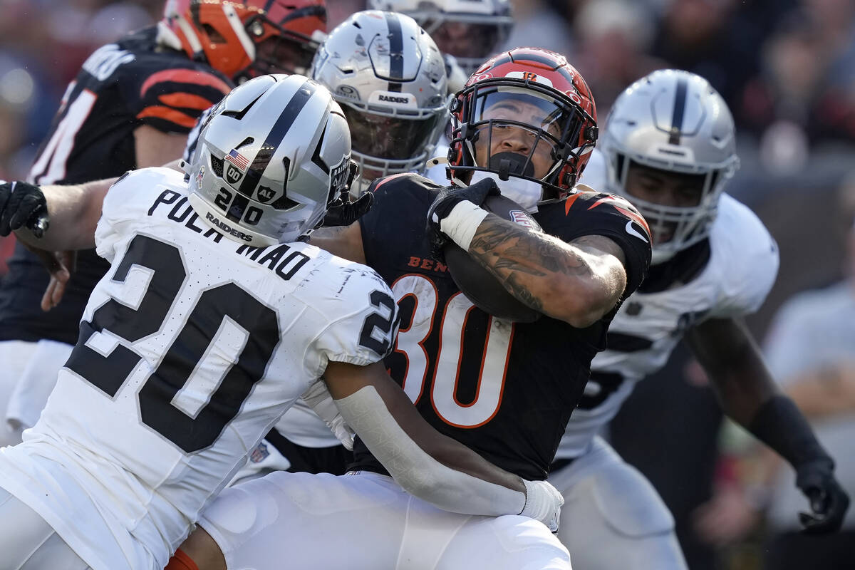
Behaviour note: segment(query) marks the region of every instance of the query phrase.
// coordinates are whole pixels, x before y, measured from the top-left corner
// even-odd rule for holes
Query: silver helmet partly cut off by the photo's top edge
[[[514,25],[510,0],[369,0],[369,8],[412,16],[467,75],[495,55]]]

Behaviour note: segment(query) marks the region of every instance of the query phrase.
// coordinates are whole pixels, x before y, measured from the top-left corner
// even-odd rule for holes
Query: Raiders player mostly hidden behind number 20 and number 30
[[[449,115],[441,55],[416,21],[377,10],[351,15],[321,44],[311,77],[333,94],[351,129],[351,153],[360,167],[351,196],[363,195],[353,207],[370,205],[372,195],[363,192],[374,179],[424,172]],[[352,223],[353,219],[332,220],[340,212],[327,216],[327,225]],[[274,430],[238,473],[240,480],[276,468],[341,474],[352,460],[327,423],[303,400],[282,416]],[[345,447],[352,447],[345,429],[339,429],[339,436]]]

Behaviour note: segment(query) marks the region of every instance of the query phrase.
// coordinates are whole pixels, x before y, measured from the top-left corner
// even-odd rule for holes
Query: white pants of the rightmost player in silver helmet
[[[602,438],[549,482],[564,496],[558,538],[575,570],[687,570],[662,498]]]

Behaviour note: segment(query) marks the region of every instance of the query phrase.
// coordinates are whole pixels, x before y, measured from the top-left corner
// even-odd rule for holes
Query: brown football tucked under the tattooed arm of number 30
[[[504,220],[540,230],[540,224],[531,214],[510,198],[490,196],[481,207]],[[516,322],[533,322],[540,318],[540,313],[517,301],[492,273],[481,267],[460,246],[450,241],[445,245],[443,253],[451,278],[476,307],[500,319]]]

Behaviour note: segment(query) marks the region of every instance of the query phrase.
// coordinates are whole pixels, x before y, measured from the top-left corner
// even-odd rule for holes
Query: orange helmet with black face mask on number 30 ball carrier
[[[540,183],[540,202],[572,191],[597,142],[591,90],[564,56],[549,50],[493,56],[469,77],[451,112],[451,175],[468,182],[485,171]],[[490,141],[513,129],[525,132],[527,144],[498,152]]]

